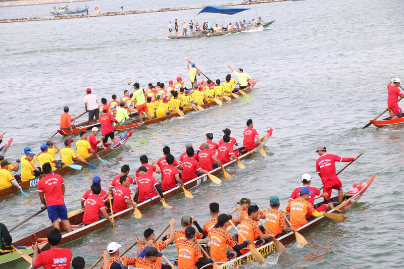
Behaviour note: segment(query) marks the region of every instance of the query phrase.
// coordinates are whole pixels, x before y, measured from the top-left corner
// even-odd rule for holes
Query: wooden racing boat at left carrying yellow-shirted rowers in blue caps
[[[106,149],[104,149],[104,150],[102,150],[102,151],[99,151],[99,152],[98,152],[98,155],[99,155],[100,157],[104,157],[104,156],[106,156],[106,155],[112,153],[112,152],[115,151],[116,149],[118,149],[118,148],[120,148],[121,146],[123,146],[123,145],[126,143],[126,141],[128,141],[128,139],[129,139],[131,136],[132,136],[132,131],[122,134],[119,138],[116,138],[116,139],[115,139],[116,143],[115,143],[114,145],[112,145],[112,146],[110,146],[110,147],[108,147],[108,148],[106,148]],[[96,156],[94,156],[94,155],[91,154],[89,157],[85,158],[85,160],[86,160],[87,162],[90,162],[91,160],[96,159],[96,158],[97,158]],[[75,165],[79,165],[79,166],[85,166],[85,165],[86,165],[86,163],[81,162],[80,160],[78,160],[78,161],[75,162],[74,164],[75,164]],[[73,171],[73,170],[74,170],[74,169],[72,169],[72,168],[70,168],[70,167],[68,167],[68,166],[64,166],[64,167],[62,167],[62,168],[59,168],[59,169],[55,170],[55,171],[53,172],[53,174],[63,175],[63,174],[69,173],[69,172],[71,172],[71,171]],[[24,181],[24,182],[19,181],[18,183],[20,184],[21,188],[25,189],[25,188],[28,188],[28,187],[36,186],[36,184],[38,183],[38,181],[39,181],[42,177],[43,177],[43,176],[39,176],[39,177],[33,178],[33,179],[29,180],[29,181]],[[11,194],[16,193],[16,192],[18,192],[18,191],[19,191],[19,189],[18,189],[16,186],[14,186],[14,185],[11,186],[11,187],[9,187],[9,188],[0,190],[0,198],[5,197],[5,196],[7,196],[7,195],[11,195]]]

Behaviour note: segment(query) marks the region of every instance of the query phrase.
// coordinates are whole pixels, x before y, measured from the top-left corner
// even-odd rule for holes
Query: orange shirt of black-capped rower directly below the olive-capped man
[[[178,243],[177,251],[179,269],[193,269],[198,259],[204,257],[199,246],[190,242]]]

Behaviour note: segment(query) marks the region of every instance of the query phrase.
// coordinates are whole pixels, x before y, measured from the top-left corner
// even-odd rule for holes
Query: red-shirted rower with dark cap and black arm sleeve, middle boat
[[[157,181],[157,179],[153,176],[147,175],[147,168],[141,166],[136,170],[136,172],[139,174],[139,176],[136,178],[139,192],[139,202],[143,202],[144,200],[153,198],[157,195],[160,195],[161,199],[164,201],[164,195],[160,188],[160,182]]]

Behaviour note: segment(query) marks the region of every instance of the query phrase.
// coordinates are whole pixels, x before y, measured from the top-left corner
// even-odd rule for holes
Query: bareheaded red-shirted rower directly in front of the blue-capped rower
[[[104,201],[99,198],[101,192],[101,185],[99,183],[93,183],[91,185],[91,195],[87,197],[84,215],[83,215],[83,223],[84,225],[92,224],[96,221],[99,221],[106,218],[110,223],[115,224],[114,220],[111,220],[110,216],[107,213],[107,207],[105,206]]]

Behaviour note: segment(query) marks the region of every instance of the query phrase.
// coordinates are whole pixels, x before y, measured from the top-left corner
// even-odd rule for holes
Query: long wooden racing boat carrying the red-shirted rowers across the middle
[[[262,143],[265,144],[267,141],[268,141],[268,138],[265,141],[263,141]],[[236,150],[239,150],[241,152],[241,154],[239,156],[239,159],[243,160],[243,159],[246,159],[246,158],[250,157],[255,152],[260,152],[260,146],[257,145],[257,147],[255,147],[254,149],[249,150],[249,151],[244,150],[243,147],[240,147],[240,148],[238,148]],[[235,164],[237,164],[237,161],[236,160],[231,160],[230,162],[223,165],[223,167],[228,168],[228,167],[233,166]],[[214,170],[212,170],[210,172],[210,174],[215,175],[215,176],[219,175],[220,173],[222,173],[222,170],[221,170],[220,167],[217,168],[217,169],[214,169]],[[209,181],[209,180],[210,179],[207,177],[207,175],[204,174],[204,175],[202,175],[200,177],[194,178],[193,180],[190,180],[190,181],[184,183],[184,186],[185,186],[185,189],[190,189],[190,188],[198,186],[198,185],[202,184],[203,182],[206,182],[206,181]],[[175,187],[175,188],[173,188],[173,189],[171,189],[169,191],[165,191],[164,192],[164,198],[167,201],[167,199],[169,199],[171,197],[174,197],[174,196],[176,196],[178,194],[181,194],[181,193],[183,193],[182,188],[180,186],[177,186],[177,187]],[[143,210],[143,209],[145,209],[145,208],[147,208],[149,206],[156,205],[156,204],[158,204],[160,202],[161,202],[160,196],[157,195],[157,196],[153,197],[152,199],[148,199],[146,201],[138,203],[137,208],[139,210]],[[125,210],[123,210],[121,212],[114,213],[114,219],[115,220],[121,219],[121,218],[124,218],[126,216],[131,215],[132,213],[133,213],[133,207],[129,207],[129,208],[127,208],[127,209],[125,209]],[[66,244],[68,242],[76,240],[76,239],[78,239],[78,238],[80,238],[80,237],[82,237],[84,235],[87,235],[87,234],[89,234],[91,232],[99,230],[99,229],[107,226],[108,224],[110,224],[110,222],[108,220],[103,219],[103,220],[99,220],[97,222],[94,222],[94,223],[92,223],[90,225],[84,226],[83,221],[82,221],[83,220],[83,215],[84,215],[84,212],[81,211],[81,212],[79,212],[79,213],[77,213],[74,216],[69,218],[69,222],[73,227],[73,232],[71,232],[71,233],[66,233],[66,230],[64,229],[62,223],[60,223],[60,230],[62,231],[62,244]],[[23,249],[23,251],[28,255],[33,254],[31,244],[34,241],[41,242],[41,249],[42,250],[47,250],[51,246],[47,243],[46,236],[47,236],[48,231],[50,231],[51,229],[53,229],[53,226],[48,226],[48,227],[46,227],[46,228],[44,228],[44,229],[42,229],[40,231],[37,231],[37,232],[35,232],[35,233],[33,233],[33,234],[29,235],[29,236],[26,236],[26,237],[24,237],[22,239],[14,241],[13,244],[16,247],[17,246],[26,246],[27,248]],[[0,265],[4,264],[4,263],[7,263],[7,262],[14,261],[14,260],[19,259],[19,258],[21,258],[21,256],[16,252],[1,255],[0,256]]]

